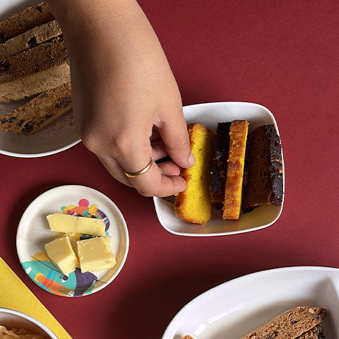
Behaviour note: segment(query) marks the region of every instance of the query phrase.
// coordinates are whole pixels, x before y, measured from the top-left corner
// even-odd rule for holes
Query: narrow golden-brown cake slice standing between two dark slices
[[[242,209],[242,183],[249,122],[234,120],[230,126],[230,153],[227,164],[222,219],[238,220]]]

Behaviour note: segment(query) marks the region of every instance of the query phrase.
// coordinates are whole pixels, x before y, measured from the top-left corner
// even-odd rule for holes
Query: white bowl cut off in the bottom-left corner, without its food
[[[0,324],[6,326],[7,329],[11,328],[25,328],[34,334],[44,335],[46,339],[58,339],[47,326],[40,323],[37,319],[28,314],[24,314],[14,309],[5,309],[0,307]]]

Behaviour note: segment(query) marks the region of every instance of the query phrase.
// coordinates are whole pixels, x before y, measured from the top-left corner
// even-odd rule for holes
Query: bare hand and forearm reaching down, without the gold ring
[[[73,112],[84,145],[119,182],[143,196],[186,189],[194,165],[177,83],[134,0],[47,1],[71,66]],[[172,161],[156,164],[169,155]],[[153,159],[147,172],[127,178]]]

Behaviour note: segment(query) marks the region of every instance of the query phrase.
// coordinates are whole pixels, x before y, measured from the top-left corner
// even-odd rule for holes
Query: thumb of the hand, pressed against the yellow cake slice
[[[167,154],[175,164],[183,168],[189,168],[194,165],[196,160],[191,152],[189,133],[184,116],[172,119],[170,124],[168,120],[163,121],[159,128],[159,133],[165,144]]]

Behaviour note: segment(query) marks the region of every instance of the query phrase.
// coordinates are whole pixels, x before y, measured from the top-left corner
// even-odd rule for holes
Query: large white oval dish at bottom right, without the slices
[[[297,306],[326,308],[326,338],[339,338],[339,270],[277,268],[230,280],[186,304],[162,339],[239,339]]]

